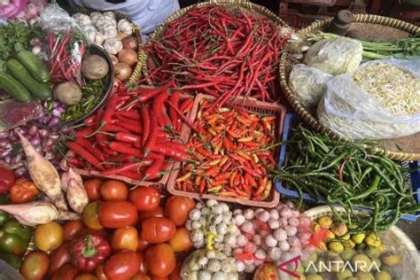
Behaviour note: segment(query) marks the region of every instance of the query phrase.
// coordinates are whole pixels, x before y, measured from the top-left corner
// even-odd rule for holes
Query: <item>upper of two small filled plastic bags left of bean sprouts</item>
[[[304,62],[329,74],[349,73],[362,62],[362,52],[362,43],[357,40],[347,37],[326,39],[307,50]]]

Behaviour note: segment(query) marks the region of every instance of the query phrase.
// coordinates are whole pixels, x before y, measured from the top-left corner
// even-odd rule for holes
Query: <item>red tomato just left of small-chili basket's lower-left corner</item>
[[[128,200],[140,212],[151,212],[159,207],[160,193],[153,187],[138,187],[130,191]]]

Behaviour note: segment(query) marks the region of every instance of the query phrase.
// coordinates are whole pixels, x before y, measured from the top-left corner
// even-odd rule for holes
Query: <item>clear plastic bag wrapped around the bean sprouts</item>
[[[420,58],[412,60],[383,59],[363,64],[388,64],[420,77]],[[380,73],[378,73],[380,74]],[[409,102],[420,104],[420,81],[416,81],[417,95]],[[376,97],[363,90],[352,74],[341,74],[327,83],[327,90],[318,106],[318,119],[339,136],[352,139],[386,139],[409,136],[420,132],[420,106],[413,114],[391,113]]]

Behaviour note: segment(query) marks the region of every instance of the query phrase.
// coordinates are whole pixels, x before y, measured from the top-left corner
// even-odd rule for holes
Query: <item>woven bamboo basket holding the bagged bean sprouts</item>
[[[299,30],[297,34],[305,36],[315,31],[321,31],[329,26],[331,20],[332,18],[315,22],[311,26]],[[376,30],[377,33],[373,32],[373,30]],[[355,15],[354,23],[350,27],[349,32],[357,32],[362,36],[362,40],[389,42],[408,37],[408,35],[416,35],[420,33],[420,27],[416,27],[398,19],[369,14],[357,14]],[[372,35],[375,37],[372,38]],[[289,74],[292,71],[292,66],[299,63],[299,60],[294,58],[294,56],[301,53],[301,51],[300,48],[293,47],[292,43],[289,43],[285,50],[286,51],[284,51],[280,58],[280,86],[284,96],[292,105],[294,111],[296,111],[302,120],[307,122],[307,124],[315,130],[325,133],[336,140],[353,141],[349,138],[338,136],[331,129],[325,128],[317,121],[313,114],[309,113],[307,109],[301,105],[300,101],[292,93],[292,90],[288,86]],[[382,140],[374,151],[385,154],[385,156],[391,159],[420,160],[420,133],[417,133],[414,136]]]

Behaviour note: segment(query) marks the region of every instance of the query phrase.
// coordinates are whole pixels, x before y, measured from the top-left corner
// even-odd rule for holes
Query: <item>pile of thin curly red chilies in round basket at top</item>
[[[191,93],[217,97],[216,105],[245,96],[276,99],[278,57],[289,28],[239,8],[192,8],[144,46],[153,82],[174,77]]]

